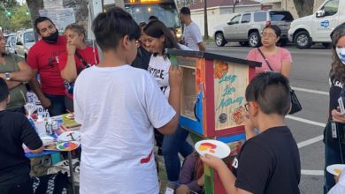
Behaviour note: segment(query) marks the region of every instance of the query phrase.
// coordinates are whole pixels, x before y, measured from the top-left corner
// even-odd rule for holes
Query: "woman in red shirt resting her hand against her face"
[[[71,24],[65,27],[66,51],[58,56],[61,77],[65,80],[65,107],[73,112],[73,87],[80,71],[99,62],[96,47],[88,47],[83,26]]]

